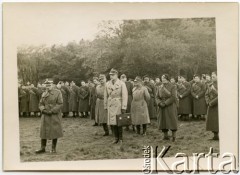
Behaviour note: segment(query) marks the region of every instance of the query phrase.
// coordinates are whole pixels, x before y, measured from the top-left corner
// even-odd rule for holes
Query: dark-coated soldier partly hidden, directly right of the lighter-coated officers
[[[150,100],[148,103],[148,112],[149,112],[149,117],[151,118],[156,118],[155,114],[155,96],[156,96],[156,89],[153,83],[150,82],[150,78],[148,75],[145,75],[144,77],[144,86],[148,89],[148,92],[150,94]]]

